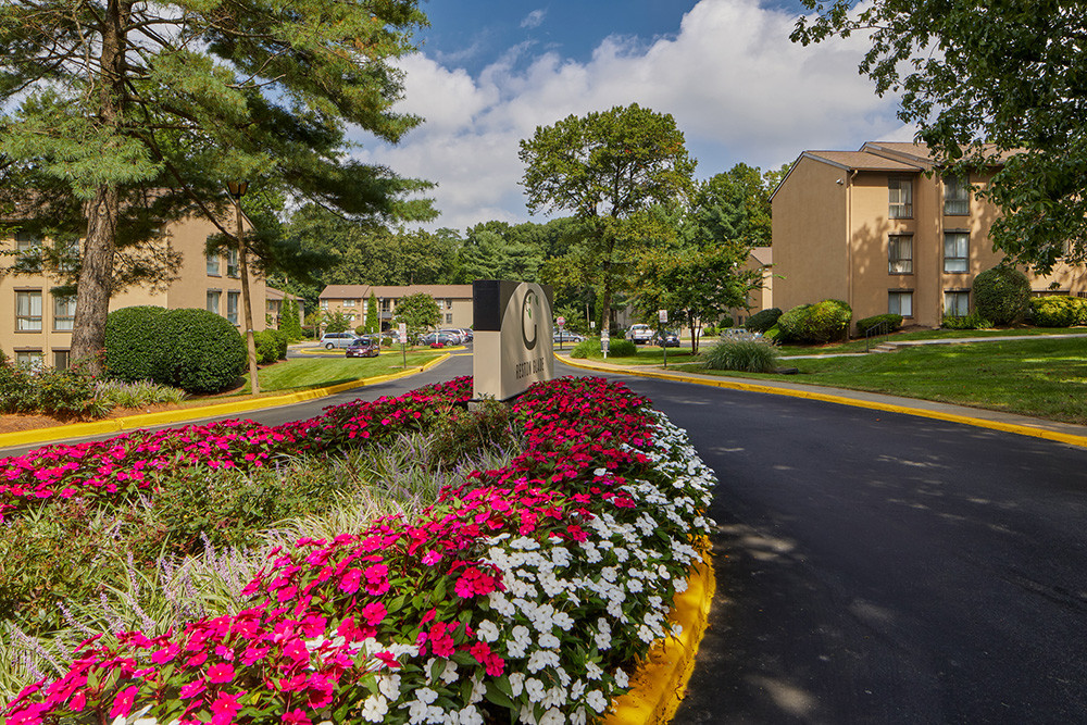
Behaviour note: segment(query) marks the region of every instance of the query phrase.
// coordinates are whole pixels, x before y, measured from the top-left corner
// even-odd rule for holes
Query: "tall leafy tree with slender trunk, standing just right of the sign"
[[[589,223],[603,328],[615,293],[616,246],[630,238],[625,222],[691,188],[696,162],[683,132],[671,114],[634,103],[537,126],[530,139],[521,141],[518,155],[530,212],[566,211]]]

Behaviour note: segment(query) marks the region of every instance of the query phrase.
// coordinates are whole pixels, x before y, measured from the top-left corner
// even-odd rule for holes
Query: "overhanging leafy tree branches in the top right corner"
[[[1072,0],[804,0],[804,45],[865,33],[860,71],[939,171],[992,174],[994,247],[1039,272],[1087,260],[1087,5]]]

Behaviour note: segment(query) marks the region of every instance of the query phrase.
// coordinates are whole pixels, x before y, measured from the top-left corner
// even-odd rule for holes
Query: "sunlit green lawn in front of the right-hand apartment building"
[[[916,339],[916,338],[914,338]],[[685,370],[789,380],[1087,424],[1087,337],[937,345],[860,358],[790,360],[798,375]]]

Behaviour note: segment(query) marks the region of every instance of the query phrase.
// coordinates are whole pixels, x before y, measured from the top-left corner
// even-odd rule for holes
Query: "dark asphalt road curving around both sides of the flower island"
[[[470,373],[459,357],[251,417]],[[1087,722],[1087,450],[621,379],[687,428],[721,479],[717,597],[676,725]]]

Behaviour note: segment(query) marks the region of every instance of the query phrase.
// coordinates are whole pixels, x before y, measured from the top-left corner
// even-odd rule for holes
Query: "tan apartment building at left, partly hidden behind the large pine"
[[[166,228],[161,243],[180,255],[174,277],[158,289],[129,288],[114,295],[110,310],[153,304],[166,309],[203,308],[241,325],[241,278],[237,251],[226,254],[204,253],[208,237],[217,233],[205,220],[191,218]],[[33,254],[45,242],[17,234],[0,240],[0,249]],[[75,323],[75,297],[57,293],[62,284],[57,270],[42,268],[38,274],[0,278],[0,349],[17,362],[43,362],[67,367]],[[251,268],[249,287],[253,309],[253,328],[264,329],[265,284]]]

